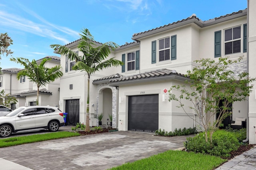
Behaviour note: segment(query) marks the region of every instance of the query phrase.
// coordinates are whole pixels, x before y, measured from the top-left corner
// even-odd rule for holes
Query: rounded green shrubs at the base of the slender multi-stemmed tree
[[[188,151],[201,152],[227,158],[230,152],[238,149],[239,142],[236,136],[227,131],[216,131],[212,135],[212,144],[205,141],[204,132],[194,138],[187,138],[184,146]]]

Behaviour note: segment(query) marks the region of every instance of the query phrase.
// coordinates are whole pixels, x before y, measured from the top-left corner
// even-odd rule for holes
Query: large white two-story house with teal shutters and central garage
[[[207,21],[193,14],[168,25],[135,33],[132,36],[134,42],[120,46],[109,56],[123,61],[123,66],[107,68],[91,76],[90,126],[98,125],[96,115],[99,113],[104,113],[102,124],[110,124],[108,114],[112,113],[113,127],[121,131],[174,131],[175,128],[195,127],[196,123],[190,117],[198,119],[197,115],[191,110],[188,117],[176,107],[177,102],[168,102],[166,90],[184,84],[186,71],[198,66],[194,61],[202,58],[217,61],[221,56],[230,59],[244,56],[240,63],[230,68],[243,72],[248,69],[248,58],[252,57],[249,74],[256,77],[253,66],[256,60],[253,57],[256,55],[256,2],[251,2],[248,11],[240,10]],[[248,29],[252,30],[251,39]],[[66,46],[78,51],[79,41]],[[85,123],[87,75],[72,70],[74,61],[66,56],[61,56],[61,65],[65,66],[66,72],[60,78],[60,109],[69,113],[70,124]],[[256,122],[255,94],[251,96],[249,102],[233,104],[233,114],[224,124],[236,117],[248,117],[249,112],[249,116],[252,115],[247,121],[250,124],[249,141],[255,143],[253,126],[256,125],[252,123]],[[250,104],[252,108],[248,107]]]

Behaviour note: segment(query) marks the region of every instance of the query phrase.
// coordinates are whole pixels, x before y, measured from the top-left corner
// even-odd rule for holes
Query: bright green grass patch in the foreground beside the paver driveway
[[[217,156],[168,150],[110,170],[213,170],[224,162],[225,159]]]

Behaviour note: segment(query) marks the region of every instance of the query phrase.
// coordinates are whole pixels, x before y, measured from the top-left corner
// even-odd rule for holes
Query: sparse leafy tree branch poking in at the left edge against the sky
[[[6,53],[6,56],[9,54],[12,54],[13,52],[8,47],[12,44],[12,39],[8,36],[7,33],[1,33],[0,34],[0,59],[1,54],[4,55]]]

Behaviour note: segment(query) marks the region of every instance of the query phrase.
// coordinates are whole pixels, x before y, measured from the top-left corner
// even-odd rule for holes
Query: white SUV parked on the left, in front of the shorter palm
[[[29,129],[59,130],[64,125],[63,113],[58,107],[22,106],[0,117],[0,137]]]

